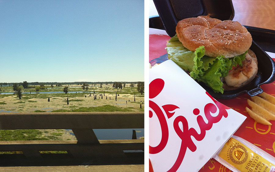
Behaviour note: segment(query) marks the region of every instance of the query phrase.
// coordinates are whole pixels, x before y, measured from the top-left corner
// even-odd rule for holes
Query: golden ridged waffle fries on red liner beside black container
[[[251,97],[251,100],[247,100],[251,109],[245,107],[249,116],[258,123],[272,125],[269,121],[275,120],[275,97],[263,92]]]

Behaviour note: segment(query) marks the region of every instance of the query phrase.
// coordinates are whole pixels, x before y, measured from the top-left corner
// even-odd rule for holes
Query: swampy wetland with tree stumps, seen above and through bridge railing
[[[137,87],[125,84],[122,89],[112,84],[93,84],[84,90],[81,85],[45,85],[36,91],[21,87],[22,96],[18,98],[13,86],[2,86],[0,91],[0,113],[31,112],[132,112],[144,111],[144,95]],[[64,93],[68,87],[68,93]],[[68,99],[68,101],[67,101]],[[144,129],[134,129],[138,139],[144,138]],[[94,129],[97,138],[131,139],[132,129]],[[45,130],[0,130],[0,141],[12,140],[76,140],[69,129]]]

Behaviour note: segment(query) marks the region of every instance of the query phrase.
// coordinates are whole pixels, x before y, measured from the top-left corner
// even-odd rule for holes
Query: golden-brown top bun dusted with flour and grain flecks
[[[235,57],[246,52],[252,44],[251,34],[239,22],[207,16],[179,21],[176,33],[185,48],[195,51],[203,45],[205,55],[210,57]]]

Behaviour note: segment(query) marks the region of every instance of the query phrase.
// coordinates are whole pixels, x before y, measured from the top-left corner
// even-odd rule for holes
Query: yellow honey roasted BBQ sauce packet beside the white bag
[[[213,158],[234,172],[275,172],[273,156],[234,135]]]

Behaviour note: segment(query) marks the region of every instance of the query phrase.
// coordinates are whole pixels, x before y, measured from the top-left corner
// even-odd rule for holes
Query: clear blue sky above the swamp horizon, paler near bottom
[[[0,0],[0,82],[144,81],[144,1]]]

